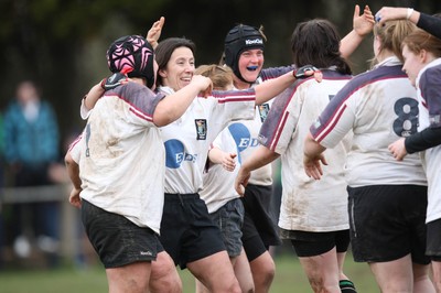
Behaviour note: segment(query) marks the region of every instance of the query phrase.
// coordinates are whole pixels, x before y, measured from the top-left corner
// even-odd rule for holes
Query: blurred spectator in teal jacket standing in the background
[[[58,126],[52,106],[40,98],[33,82],[24,80],[17,87],[17,97],[4,112],[4,160],[14,187],[52,184],[49,171],[60,159]],[[62,195],[61,195],[62,196]],[[15,248],[36,245],[44,252],[55,254],[58,238],[58,207],[55,202],[17,204],[12,213],[12,237]],[[23,235],[23,217],[32,223],[32,232]],[[19,242],[18,242],[19,241]],[[26,257],[29,249],[15,249]]]

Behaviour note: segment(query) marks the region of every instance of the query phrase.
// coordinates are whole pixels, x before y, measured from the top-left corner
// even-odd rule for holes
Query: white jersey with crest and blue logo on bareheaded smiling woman
[[[173,89],[160,87],[170,94]],[[254,89],[213,91],[208,98],[196,98],[176,121],[162,127],[165,145],[165,193],[193,194],[203,187],[202,173],[209,144],[229,122],[252,119],[256,104]]]

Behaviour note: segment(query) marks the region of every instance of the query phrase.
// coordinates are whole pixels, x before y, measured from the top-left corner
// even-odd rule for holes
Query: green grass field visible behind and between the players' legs
[[[311,292],[299,261],[283,253],[276,257],[277,273],[271,292]],[[358,293],[378,292],[374,278],[365,263],[355,263],[347,256],[345,273],[355,282]],[[181,271],[184,293],[194,292],[194,280],[187,270]],[[98,293],[107,292],[106,274],[101,267],[77,270],[65,265],[57,270],[0,271],[0,293]]]

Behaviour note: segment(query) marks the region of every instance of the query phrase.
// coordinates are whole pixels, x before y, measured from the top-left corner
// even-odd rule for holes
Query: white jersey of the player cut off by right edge
[[[418,98],[420,100],[419,131],[441,127],[441,58],[429,63],[418,74]],[[441,145],[421,152],[428,180],[428,209],[426,223],[441,218]]]

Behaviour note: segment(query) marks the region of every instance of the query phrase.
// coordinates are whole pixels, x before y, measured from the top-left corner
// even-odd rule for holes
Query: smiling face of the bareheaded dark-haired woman
[[[181,46],[173,51],[164,69],[159,70],[162,77],[162,85],[179,90],[189,85],[194,73],[193,52]]]

